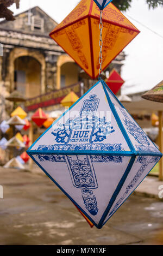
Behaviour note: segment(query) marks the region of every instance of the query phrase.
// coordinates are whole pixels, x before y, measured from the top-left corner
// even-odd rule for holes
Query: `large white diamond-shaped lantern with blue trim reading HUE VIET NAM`
[[[97,228],[162,156],[103,80],[27,152]]]

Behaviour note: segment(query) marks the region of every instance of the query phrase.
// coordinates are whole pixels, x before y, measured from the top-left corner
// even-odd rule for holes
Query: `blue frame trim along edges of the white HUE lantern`
[[[129,146],[129,148],[130,148],[130,151],[93,151],[93,150],[81,150],[81,151],[60,151],[60,150],[55,150],[55,151],[39,151],[39,150],[32,150],[32,147],[36,144],[36,142],[45,134],[45,133],[47,133],[47,131],[49,130],[49,129],[51,129],[52,128],[52,126],[55,124],[55,123],[57,123],[59,120],[60,120],[60,118],[62,118],[69,110],[71,110],[72,108],[73,108],[73,106],[74,105],[76,105],[80,100],[82,100],[82,98],[83,97],[85,97],[86,96],[86,94],[87,93],[89,93],[91,90],[92,90],[92,88],[94,88],[95,86],[97,86],[99,83],[102,83],[102,86],[103,86],[103,90],[104,90],[104,92],[105,92],[105,95],[106,95],[106,99],[108,100],[108,104],[109,104],[109,106],[110,106],[110,109],[111,109],[111,111],[112,111],[112,114],[114,115],[114,117],[115,117],[115,120],[117,121],[117,124],[118,124],[118,127],[121,129],[121,132],[122,132],[122,134],[123,134],[123,136],[124,136],[124,139],[126,139],[126,141],[127,141],[127,144],[128,144],[128,146]],[[133,146],[133,144],[131,143],[131,141],[130,141],[130,139],[129,139],[129,136],[128,136],[128,134],[127,134],[127,132],[126,132],[126,130],[124,129],[124,126],[123,126],[123,124],[122,124],[122,122],[121,122],[121,120],[120,120],[120,117],[118,116],[118,114],[117,114],[117,111],[116,111],[116,109],[115,109],[115,106],[114,106],[114,104],[111,102],[111,99],[110,99],[110,97],[109,97],[109,93],[108,93],[108,91],[111,93],[111,96],[112,97],[114,97],[115,98],[115,100],[117,100],[117,102],[121,105],[121,107],[124,109],[124,106],[121,104],[121,102],[119,102],[119,100],[116,98],[116,96],[114,95],[114,93],[112,93],[112,91],[110,90],[110,88],[105,84],[105,82],[103,81],[103,80],[100,80],[100,81],[98,81],[94,86],[92,86],[92,88],[90,88],[90,90],[88,90],[79,100],[77,100],[77,102],[76,103],[74,103],[71,107],[70,107],[70,109],[68,109],[68,110],[66,110],[65,111],[65,113],[64,114],[62,114],[53,124],[52,124],[52,126],[51,127],[49,127],[35,142],[34,142],[34,144],[32,145],[32,146],[30,146],[29,148],[28,148],[28,150],[27,150],[27,153],[28,153],[28,155],[34,160],[34,162],[43,170],[43,172],[45,172],[45,174],[49,177],[49,178],[51,178],[51,180],[61,189],[61,191],[62,192],[64,192],[64,194],[73,202],[73,204],[75,204],[77,207],[78,207],[78,209],[80,210],[80,211],[82,211],[83,213],[84,213],[84,215],[88,218],[88,219],[90,219],[90,221],[95,225],[95,227],[97,227],[98,229],[101,229],[102,227],[103,227],[103,225],[108,221],[108,219],[118,210],[118,208],[127,200],[127,198],[130,196],[130,194],[132,194],[133,192],[131,192],[129,195],[128,195],[128,197],[126,198],[126,200],[124,200],[124,202],[122,203],[122,204],[120,204],[120,206],[118,206],[117,207],[117,209],[114,211],[114,212],[112,212],[112,214],[108,217],[108,219],[106,219],[106,221],[105,221],[105,218],[106,218],[106,216],[108,215],[108,213],[109,213],[109,211],[110,211],[110,209],[111,209],[111,207],[112,207],[112,205],[114,204],[114,201],[116,200],[116,198],[117,198],[117,195],[118,195],[118,193],[120,193],[120,190],[121,190],[121,188],[122,188],[122,186],[123,186],[123,184],[124,184],[124,182],[126,181],[126,178],[128,177],[128,174],[129,174],[129,172],[130,172],[130,170],[131,170],[131,168],[132,168],[132,166],[133,166],[133,164],[134,164],[134,162],[135,162],[135,158],[136,158],[136,156],[153,156],[153,157],[158,157],[158,159],[156,159],[156,162],[154,162],[155,164],[156,163],[158,163],[159,162],[159,160],[160,160],[160,158],[162,157],[162,153],[161,152],[151,152],[151,151],[136,151],[135,150],[135,148],[134,148],[134,146]],[[107,91],[108,90],[108,91]],[[128,111],[127,111],[128,112]],[[129,113],[128,113],[129,114]],[[130,114],[129,114],[130,115]],[[141,129],[141,128],[140,128]],[[142,129],[141,129],[142,130]],[[142,130],[142,132],[143,132],[143,130]],[[144,133],[144,132],[143,132]],[[154,143],[153,143],[153,145],[154,145]],[[154,145],[154,147],[157,149],[157,151],[158,151],[158,148]],[[103,155],[103,156],[128,156],[128,157],[130,157],[130,161],[129,161],[129,164],[128,164],[128,166],[127,166],[127,169],[126,169],[126,171],[124,172],[124,174],[123,174],[123,176],[122,176],[122,178],[121,178],[121,180],[120,180],[120,182],[118,183],[118,185],[117,185],[117,187],[116,187],[116,189],[115,189],[115,192],[112,194],[112,197],[111,197],[111,199],[110,199],[110,201],[109,201],[109,204],[108,204],[108,206],[106,207],[106,209],[105,209],[105,211],[104,211],[104,213],[103,213],[103,215],[102,215],[102,217],[101,217],[101,219],[100,219],[100,221],[99,221],[99,223],[98,224],[96,224],[95,223],[95,221],[93,221],[93,219],[87,214],[87,212],[85,212],[78,204],[77,204],[77,202],[76,201],[74,201],[73,200],[73,198],[71,198],[70,197],[70,195],[69,194],[67,194],[67,192],[64,190],[64,189],[62,189],[62,187],[53,179],[53,177],[51,176],[51,175],[49,175],[48,174],[48,172],[37,162],[37,160],[34,158],[34,155],[36,155],[36,154],[62,154],[62,155],[74,155],[74,154],[77,154],[77,155],[93,155],[93,156],[98,156],[98,155]],[[154,166],[155,166],[155,164],[154,164]],[[153,168],[152,168],[153,169]],[[152,170],[151,169],[151,170]],[[151,171],[150,170],[150,171]],[[150,172],[149,171],[149,172]],[[149,173],[148,172],[148,173]],[[142,182],[142,181],[141,181]],[[140,182],[140,183],[141,183]],[[140,184],[139,183],[139,184]],[[137,185],[137,187],[139,186],[139,184]],[[136,188],[137,188],[136,187]],[[135,189],[134,189],[135,190]]]

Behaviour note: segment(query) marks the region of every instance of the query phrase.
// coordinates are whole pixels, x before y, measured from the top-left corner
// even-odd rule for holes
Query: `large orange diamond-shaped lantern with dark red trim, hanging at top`
[[[93,0],[82,0],[50,34],[93,79],[99,74],[99,15]],[[103,70],[139,32],[112,3],[105,7]]]

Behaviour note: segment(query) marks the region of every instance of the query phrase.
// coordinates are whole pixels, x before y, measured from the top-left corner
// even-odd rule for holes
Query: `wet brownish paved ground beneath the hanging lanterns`
[[[163,245],[163,203],[132,195],[91,229],[48,177],[0,168],[0,245]]]

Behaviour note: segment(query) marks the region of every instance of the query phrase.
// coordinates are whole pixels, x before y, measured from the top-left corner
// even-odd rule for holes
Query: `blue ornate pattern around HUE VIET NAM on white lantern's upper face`
[[[54,128],[52,135],[57,143],[68,144],[69,142],[101,142],[115,130],[111,122],[107,122],[105,117],[96,116],[99,99],[96,94],[92,94],[89,99],[84,100],[80,115],[75,118],[68,118],[64,124],[60,123]],[[84,136],[85,135],[85,136]]]

